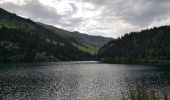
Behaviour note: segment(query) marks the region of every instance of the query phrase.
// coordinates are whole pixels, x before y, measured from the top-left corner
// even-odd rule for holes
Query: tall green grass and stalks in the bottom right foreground
[[[146,88],[145,84],[143,84],[144,82],[137,82],[134,87],[130,86],[127,78],[126,82],[128,84],[128,90],[127,92],[121,91],[122,100],[170,100],[169,90],[166,89],[166,80],[157,80],[160,83],[159,86],[163,86],[163,90],[161,91]]]

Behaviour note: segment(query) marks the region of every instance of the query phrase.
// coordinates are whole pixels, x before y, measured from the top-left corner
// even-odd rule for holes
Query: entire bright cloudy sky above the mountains
[[[0,0],[0,7],[65,30],[113,38],[170,25],[170,0]]]

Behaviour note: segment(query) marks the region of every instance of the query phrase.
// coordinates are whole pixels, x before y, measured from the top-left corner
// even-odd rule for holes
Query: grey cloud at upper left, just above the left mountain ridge
[[[72,3],[70,3],[70,5],[73,8],[73,11],[67,12],[65,15],[60,15],[57,13],[55,8],[45,6],[38,0],[26,2],[27,3],[25,5],[17,5],[7,2],[0,4],[0,7],[18,15],[29,17],[34,21],[40,21],[52,25],[60,25],[63,27],[76,27],[83,21],[83,18],[71,18],[71,15],[74,14],[78,9]]]

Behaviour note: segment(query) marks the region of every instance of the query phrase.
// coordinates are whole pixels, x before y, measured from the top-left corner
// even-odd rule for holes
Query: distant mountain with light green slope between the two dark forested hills
[[[84,52],[88,52],[92,55],[97,54],[100,47],[102,47],[104,44],[112,40],[112,38],[91,36],[79,32],[69,32],[63,29],[56,28],[51,25],[46,25],[42,23],[38,23],[38,24],[53,31],[55,34],[69,40],[72,43],[72,45],[74,45],[78,49]]]

